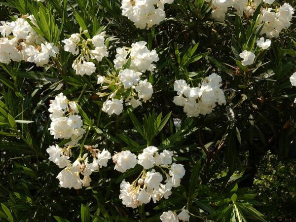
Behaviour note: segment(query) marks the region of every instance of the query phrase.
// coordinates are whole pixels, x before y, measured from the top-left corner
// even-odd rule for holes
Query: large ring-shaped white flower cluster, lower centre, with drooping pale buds
[[[165,149],[159,153],[157,150],[158,148],[153,146],[145,148],[138,155],[138,158],[127,150],[113,155],[112,160],[115,163],[115,170],[125,172],[135,167],[137,163],[144,168],[132,184],[125,180],[120,184],[119,198],[122,199],[122,204],[127,207],[136,208],[150,202],[151,199],[154,203],[163,197],[167,199],[172,194],[172,187],[180,185],[181,178],[185,175],[184,166],[182,164],[172,164],[172,151]],[[156,167],[161,173],[155,170]],[[147,171],[148,169],[149,171]],[[163,175],[166,178],[165,180]]]

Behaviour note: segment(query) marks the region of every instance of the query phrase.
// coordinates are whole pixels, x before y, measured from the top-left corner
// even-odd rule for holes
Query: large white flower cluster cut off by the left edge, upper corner
[[[55,58],[59,53],[58,47],[40,37],[27,20],[37,27],[32,15],[23,15],[13,22],[0,22],[0,33],[3,36],[0,38],[0,63],[28,61],[44,66],[50,57]]]

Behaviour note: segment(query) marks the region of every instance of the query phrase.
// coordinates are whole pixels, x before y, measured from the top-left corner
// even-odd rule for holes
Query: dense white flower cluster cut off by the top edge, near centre
[[[139,29],[151,28],[165,20],[164,4],[174,0],[122,0],[122,15]]]

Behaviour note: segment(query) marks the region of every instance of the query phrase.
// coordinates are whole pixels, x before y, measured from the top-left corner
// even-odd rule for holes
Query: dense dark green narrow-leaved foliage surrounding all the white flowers
[[[294,0],[285,2],[296,7]],[[288,30],[272,39],[271,48],[260,54],[252,69],[244,70],[235,60],[241,60],[238,54],[246,39],[259,38],[254,32],[256,15],[240,18],[230,10],[224,23],[217,22],[204,0],[175,0],[166,5],[168,19],[147,30],[137,29],[121,15],[120,0],[0,4],[1,21],[33,14],[39,19],[39,35],[56,44],[79,27],[90,37],[104,29],[113,38],[109,57],[97,66],[97,74],[111,69],[117,47],[136,41],[147,41],[160,58],[157,72],[146,73],[153,99],[119,116],[101,111],[96,75],[75,75],[73,57],[62,46],[47,69],[26,62],[0,64],[1,220],[154,222],[163,211],[186,206],[190,221],[295,221],[296,88],[289,81],[296,71],[295,18]],[[227,104],[206,116],[187,117],[172,102],[174,81],[185,79],[197,86],[213,72],[222,76]],[[122,175],[110,161],[92,174],[90,187],[61,188],[56,179],[60,169],[45,151],[61,142],[47,130],[49,101],[60,92],[77,101],[85,112],[84,122],[92,123],[85,144],[99,144],[111,153],[141,151],[147,145],[174,150],[186,169],[181,186],[168,200],[126,208],[118,198],[119,184],[123,178],[135,179],[137,169]],[[163,124],[155,123],[156,116]],[[149,127],[155,133],[141,135]]]

